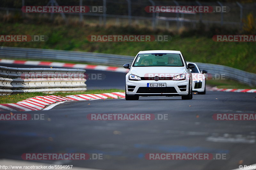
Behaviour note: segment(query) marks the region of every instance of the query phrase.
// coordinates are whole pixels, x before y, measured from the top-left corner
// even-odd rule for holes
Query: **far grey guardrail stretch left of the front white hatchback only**
[[[123,66],[124,61],[132,62],[134,57],[80,51],[1,47],[0,58],[49,59]]]

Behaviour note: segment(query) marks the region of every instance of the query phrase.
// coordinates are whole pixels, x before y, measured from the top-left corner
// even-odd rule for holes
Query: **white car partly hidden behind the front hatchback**
[[[187,62],[187,64],[194,64],[196,67],[191,69],[192,73],[192,91],[197,91],[197,94],[204,95],[206,93],[206,77],[204,73],[207,73],[206,70],[200,70],[196,63]]]

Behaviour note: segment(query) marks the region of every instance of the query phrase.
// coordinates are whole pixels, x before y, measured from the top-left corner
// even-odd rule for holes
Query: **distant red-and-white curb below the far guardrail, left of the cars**
[[[112,71],[112,72],[121,72],[121,73],[127,73],[128,72],[128,70],[123,68],[123,67],[88,65],[88,64],[73,64],[73,63],[60,63],[60,62],[48,62],[48,61],[27,61],[27,60],[0,59],[0,63],[32,65],[32,66],[82,68],[82,69],[89,69],[89,70]]]

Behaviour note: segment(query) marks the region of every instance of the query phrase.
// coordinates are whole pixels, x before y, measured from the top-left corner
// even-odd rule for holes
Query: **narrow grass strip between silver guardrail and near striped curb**
[[[57,96],[67,96],[67,95],[78,95],[78,94],[100,94],[100,93],[111,93],[111,92],[124,92],[120,89],[106,89],[106,90],[87,90],[84,92],[71,92],[71,93],[53,93],[47,94],[42,92],[33,92],[33,93],[20,93],[7,96],[0,96],[0,103],[17,103],[21,100],[25,100],[29,97],[35,96],[47,96],[47,95],[57,95]]]

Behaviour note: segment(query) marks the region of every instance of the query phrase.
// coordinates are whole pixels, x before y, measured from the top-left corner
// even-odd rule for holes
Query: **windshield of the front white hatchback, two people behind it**
[[[180,54],[139,54],[133,64],[134,67],[146,66],[184,66]]]

